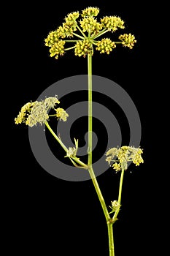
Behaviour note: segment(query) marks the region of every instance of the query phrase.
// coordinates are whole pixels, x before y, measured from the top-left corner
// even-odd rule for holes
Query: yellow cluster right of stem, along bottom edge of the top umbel
[[[109,54],[113,48],[115,48],[115,42],[112,42],[109,38],[101,39],[101,41],[97,42],[96,50],[100,50],[100,53]]]

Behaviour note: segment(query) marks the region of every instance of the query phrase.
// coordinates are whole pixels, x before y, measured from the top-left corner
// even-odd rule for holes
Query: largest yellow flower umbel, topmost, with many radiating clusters
[[[99,13],[97,7],[88,7],[82,12],[69,13],[62,26],[55,31],[51,31],[45,39],[45,45],[50,48],[50,56],[63,56],[66,50],[74,49],[76,56],[93,55],[93,48],[100,53],[109,54],[117,44],[132,49],[136,39],[133,34],[120,34],[119,41],[112,41],[109,38],[96,40],[108,31],[115,32],[117,29],[125,29],[124,21],[117,16],[104,16],[97,20]],[[80,18],[80,20],[77,20]],[[77,34],[77,31],[79,34]],[[77,37],[73,39],[73,37]],[[73,42],[72,47],[66,48],[68,42]]]

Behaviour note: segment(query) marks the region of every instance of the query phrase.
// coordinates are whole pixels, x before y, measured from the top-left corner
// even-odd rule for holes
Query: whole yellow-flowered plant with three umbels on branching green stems
[[[117,215],[121,207],[123,176],[129,163],[132,162],[138,166],[143,162],[142,149],[135,148],[134,146],[121,146],[120,148],[109,148],[107,151],[106,161],[109,166],[113,167],[116,172],[121,172],[117,200],[113,200],[111,206],[107,207],[101,189],[98,186],[92,164],[92,58],[94,49],[98,50],[101,54],[111,53],[117,45],[123,45],[126,48],[132,49],[136,43],[136,39],[133,34],[120,34],[114,41],[109,37],[98,39],[104,34],[107,34],[107,32],[112,32],[113,34],[117,29],[125,28],[124,21],[117,16],[105,16],[98,22],[96,19],[98,12],[97,7],[88,7],[82,10],[81,13],[69,13],[62,25],[55,31],[51,31],[45,39],[45,45],[50,48],[50,56],[54,56],[55,59],[63,56],[68,50],[74,50],[76,56],[83,56],[88,59],[88,162],[82,162],[77,157],[78,140],[74,139],[74,147],[67,148],[61,138],[50,127],[48,122],[50,118],[55,117],[59,121],[66,121],[69,116],[63,108],[57,107],[60,102],[56,95],[54,97],[47,97],[41,101],[26,103],[21,108],[18,117],[15,118],[15,124],[25,123],[29,127],[33,127],[36,124],[45,124],[55,140],[66,151],[65,157],[69,157],[75,167],[84,168],[85,171],[89,172],[106,218],[109,256],[114,256],[113,225],[117,221]],[[49,114],[51,109],[53,110],[53,114]]]

